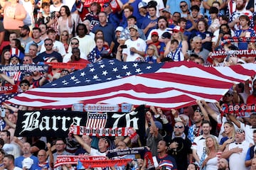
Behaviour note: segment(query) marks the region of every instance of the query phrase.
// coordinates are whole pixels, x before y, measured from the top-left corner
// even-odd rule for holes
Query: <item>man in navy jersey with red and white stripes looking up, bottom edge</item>
[[[157,145],[158,155],[156,157],[157,162],[159,163],[159,168],[177,170],[176,161],[173,157],[167,154],[167,149],[168,149],[168,146],[166,142],[164,140],[160,140]]]

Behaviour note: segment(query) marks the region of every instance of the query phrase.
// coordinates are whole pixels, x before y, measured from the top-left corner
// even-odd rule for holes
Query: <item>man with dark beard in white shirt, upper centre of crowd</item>
[[[168,42],[167,39],[161,38],[161,35],[163,33],[168,32],[167,26],[168,26],[167,18],[165,16],[160,16],[157,19],[157,28],[150,31],[149,36],[147,37],[147,40],[146,40],[146,44],[150,44],[152,42],[151,33],[153,33],[153,32],[158,33],[160,42],[167,43]]]

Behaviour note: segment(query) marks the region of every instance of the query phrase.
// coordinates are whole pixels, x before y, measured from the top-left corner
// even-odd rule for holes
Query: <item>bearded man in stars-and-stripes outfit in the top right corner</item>
[[[230,28],[234,28],[235,30],[240,30],[241,26],[239,24],[239,17],[242,15],[246,15],[250,18],[250,25],[253,24],[252,20],[252,12],[245,8],[246,0],[237,0],[236,1],[236,11],[232,13],[229,18],[228,26]]]

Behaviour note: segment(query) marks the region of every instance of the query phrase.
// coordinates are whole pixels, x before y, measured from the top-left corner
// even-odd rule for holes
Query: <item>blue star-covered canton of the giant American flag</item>
[[[53,81],[52,84],[46,84],[41,88],[60,88],[98,84],[136,74],[156,72],[156,70],[160,69],[163,64],[101,60],[94,64],[88,64],[85,69],[73,72],[69,77],[60,78],[58,81]]]

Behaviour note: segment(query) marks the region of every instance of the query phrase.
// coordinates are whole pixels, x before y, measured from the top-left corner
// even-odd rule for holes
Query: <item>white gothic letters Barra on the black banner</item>
[[[24,131],[32,131],[32,130],[36,130],[39,128],[39,130],[55,130],[57,131],[58,125],[61,125],[61,128],[63,131],[68,130],[69,125],[67,126],[66,123],[71,120],[70,117],[66,117],[66,116],[58,116],[56,117],[55,115],[53,115],[52,117],[50,116],[43,116],[43,118],[41,118],[41,120],[39,120],[41,113],[40,111],[36,111],[36,112],[29,112],[29,113],[25,113],[23,116],[26,116],[25,120],[23,120],[22,124],[22,128],[23,130],[21,130],[21,132],[19,133],[21,135],[22,132]],[[82,118],[78,118],[78,117],[74,117],[72,118],[72,125],[80,125],[80,121],[82,120]]]

